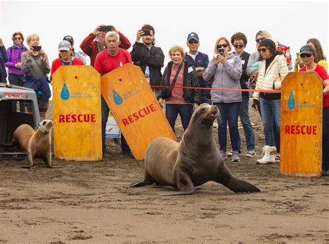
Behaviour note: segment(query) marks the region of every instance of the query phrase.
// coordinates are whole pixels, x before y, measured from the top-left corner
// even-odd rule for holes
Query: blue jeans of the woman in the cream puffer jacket
[[[278,131],[278,138],[280,140],[280,127],[281,127],[281,117],[280,117],[280,103],[281,99],[264,99],[260,97],[260,109],[262,111],[262,122],[264,126],[264,136],[265,144],[268,146],[276,146],[277,152],[280,152],[280,144],[276,144],[274,140],[274,130],[273,123]]]

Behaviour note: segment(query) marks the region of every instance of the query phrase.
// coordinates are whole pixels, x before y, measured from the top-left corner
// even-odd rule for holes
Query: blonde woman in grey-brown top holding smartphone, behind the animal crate
[[[49,60],[40,46],[39,35],[28,35],[26,42],[30,49],[22,54],[23,86],[32,88],[37,93],[37,105],[39,106],[40,120],[42,121],[46,118],[49,106],[50,88],[47,76],[50,72]],[[42,84],[44,89],[42,89]]]

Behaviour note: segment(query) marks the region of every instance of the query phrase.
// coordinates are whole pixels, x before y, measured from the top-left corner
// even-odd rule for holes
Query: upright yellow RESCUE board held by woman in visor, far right
[[[281,90],[280,172],[321,177],[322,80],[315,72],[290,72]]]

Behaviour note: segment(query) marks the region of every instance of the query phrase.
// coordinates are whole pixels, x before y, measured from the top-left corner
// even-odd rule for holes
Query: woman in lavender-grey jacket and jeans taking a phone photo
[[[229,54],[232,50],[230,42],[224,37],[218,38],[214,45],[214,58],[210,60],[208,67],[203,72],[203,79],[208,81],[211,88],[241,89],[240,77],[242,75],[242,63],[238,56]],[[213,81],[212,81],[213,79]],[[218,137],[221,157],[227,158],[227,124],[230,129],[230,141],[233,149],[232,161],[239,162],[238,141],[239,131],[237,117],[239,116],[242,101],[241,92],[233,90],[211,90],[211,100],[219,108]]]

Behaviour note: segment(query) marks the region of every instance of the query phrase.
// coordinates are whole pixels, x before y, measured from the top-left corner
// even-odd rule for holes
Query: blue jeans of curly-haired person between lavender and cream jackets
[[[239,117],[244,127],[244,135],[246,136],[246,147],[248,151],[255,151],[255,132],[251,125],[249,117],[249,98],[242,96],[242,103],[239,110]],[[238,149],[241,151],[241,138],[239,134]]]

